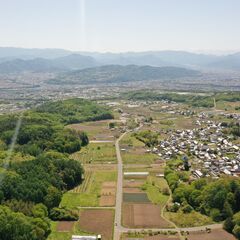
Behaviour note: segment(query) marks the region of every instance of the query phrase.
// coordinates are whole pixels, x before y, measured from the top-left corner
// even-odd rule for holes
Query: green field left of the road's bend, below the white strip
[[[114,143],[90,143],[71,157],[81,163],[108,163],[116,162]]]

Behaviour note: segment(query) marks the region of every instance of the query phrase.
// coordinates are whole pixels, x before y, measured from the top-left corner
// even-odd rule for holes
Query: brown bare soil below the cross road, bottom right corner
[[[210,233],[204,232],[190,232],[187,236],[188,240],[236,240],[236,238],[224,231],[223,229],[213,229]]]

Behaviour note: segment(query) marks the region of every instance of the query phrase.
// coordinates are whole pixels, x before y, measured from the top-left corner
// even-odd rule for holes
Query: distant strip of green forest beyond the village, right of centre
[[[214,107],[213,98],[216,102],[238,102],[240,101],[240,93],[233,92],[231,94],[216,93],[212,96],[209,95],[194,95],[194,94],[178,94],[178,93],[158,93],[153,91],[133,91],[124,93],[123,97],[130,100],[143,100],[143,101],[161,101],[166,100],[169,102],[185,103],[193,107]]]

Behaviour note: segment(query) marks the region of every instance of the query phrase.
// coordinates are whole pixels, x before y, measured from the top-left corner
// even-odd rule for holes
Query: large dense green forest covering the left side
[[[0,116],[0,239],[45,240],[50,219],[78,218],[58,206],[62,193],[82,181],[81,164],[68,154],[88,144],[88,137],[65,125],[112,115],[105,107],[82,99],[49,102],[26,111],[8,166],[19,117]]]

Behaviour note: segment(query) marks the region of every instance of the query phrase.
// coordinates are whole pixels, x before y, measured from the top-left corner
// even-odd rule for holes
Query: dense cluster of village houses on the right
[[[189,161],[195,177],[219,177],[221,174],[240,176],[240,146],[224,133],[221,123],[200,115],[196,128],[171,130],[168,138],[153,151],[166,160],[180,156]]]

